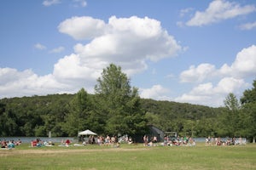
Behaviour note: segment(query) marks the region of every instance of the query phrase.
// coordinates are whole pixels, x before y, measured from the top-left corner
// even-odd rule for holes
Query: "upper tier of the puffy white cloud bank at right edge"
[[[189,70],[180,74],[180,82],[203,82],[213,77],[252,77],[256,75],[256,46],[243,48],[231,65],[224,64],[219,69],[215,65],[191,65]]]

